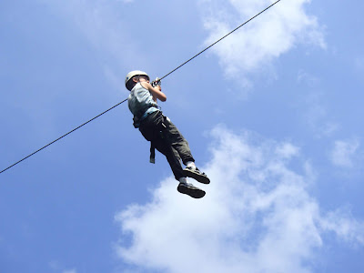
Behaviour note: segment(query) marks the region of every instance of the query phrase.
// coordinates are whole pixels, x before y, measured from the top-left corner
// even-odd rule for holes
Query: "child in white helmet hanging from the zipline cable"
[[[130,112],[133,114],[133,125],[139,128],[142,135],[150,141],[150,162],[155,163],[155,149],[167,157],[172,172],[179,181],[177,190],[190,197],[201,198],[205,191],[187,183],[187,177],[209,184],[207,175],[195,165],[187,140],[178,131],[171,120],[164,116],[157,100],[165,102],[167,96],[160,85],[150,84],[146,72],[134,70],[126,75],[126,89],[130,91],[127,98]],[[159,81],[160,84],[160,81]],[[181,160],[186,168],[182,168]]]

